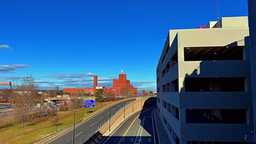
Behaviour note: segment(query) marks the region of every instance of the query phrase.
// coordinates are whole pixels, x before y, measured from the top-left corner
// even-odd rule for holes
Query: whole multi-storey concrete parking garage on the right
[[[248,17],[168,32],[156,81],[158,114],[172,143],[254,141],[248,35]]]

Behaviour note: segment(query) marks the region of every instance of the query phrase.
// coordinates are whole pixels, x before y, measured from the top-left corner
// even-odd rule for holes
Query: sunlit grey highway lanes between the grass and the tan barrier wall
[[[132,100],[125,101],[125,105],[131,103]],[[124,107],[124,103],[119,103],[111,106],[110,115],[114,116],[115,112],[119,111]],[[91,134],[94,134],[98,128],[109,119],[109,109],[98,113],[96,116],[92,117],[85,123],[79,125],[75,128],[75,143],[83,143],[86,139],[89,138]],[[49,140],[44,143],[73,143],[73,129],[68,133],[55,138],[54,140]]]

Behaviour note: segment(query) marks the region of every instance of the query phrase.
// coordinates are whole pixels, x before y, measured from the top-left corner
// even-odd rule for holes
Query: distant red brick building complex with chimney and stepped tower
[[[103,88],[105,92],[107,93],[113,93],[116,97],[121,96],[127,96],[130,97],[137,94],[137,88],[133,87],[130,83],[130,80],[127,80],[127,75],[124,74],[124,71],[122,70],[122,73],[119,74],[118,79],[113,79],[113,87],[98,87],[98,77],[97,75],[94,75],[94,87],[93,88],[63,88],[63,92],[65,93],[90,93],[94,94],[97,91],[97,88]],[[130,93],[128,93],[130,92]]]

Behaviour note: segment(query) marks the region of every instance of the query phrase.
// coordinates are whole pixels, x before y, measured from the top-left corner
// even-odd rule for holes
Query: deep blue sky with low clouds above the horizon
[[[220,17],[247,16],[247,0],[219,0]],[[112,87],[122,69],[154,90],[168,29],[217,20],[217,0],[0,1],[0,80],[36,77],[46,86]],[[4,87],[0,87],[4,88]]]

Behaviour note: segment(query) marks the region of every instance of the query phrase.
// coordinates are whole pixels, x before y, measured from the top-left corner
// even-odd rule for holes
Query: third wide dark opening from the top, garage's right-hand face
[[[247,110],[186,109],[186,123],[247,124]]]

